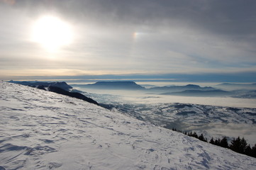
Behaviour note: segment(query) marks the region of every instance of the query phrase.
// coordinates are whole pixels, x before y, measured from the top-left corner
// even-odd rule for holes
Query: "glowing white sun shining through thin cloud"
[[[71,44],[72,39],[73,33],[69,24],[55,16],[43,16],[33,24],[33,42],[40,43],[50,52],[59,50],[64,45]]]

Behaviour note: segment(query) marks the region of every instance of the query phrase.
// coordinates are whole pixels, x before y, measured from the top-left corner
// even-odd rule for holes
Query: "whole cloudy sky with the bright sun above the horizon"
[[[0,0],[0,79],[256,82],[255,8],[254,0]]]

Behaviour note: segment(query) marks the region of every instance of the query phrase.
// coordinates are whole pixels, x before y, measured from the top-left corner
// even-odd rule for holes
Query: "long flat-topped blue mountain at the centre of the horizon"
[[[134,81],[98,81],[95,84],[82,85],[84,87],[96,89],[126,89],[126,90],[141,90],[143,86],[136,84]]]

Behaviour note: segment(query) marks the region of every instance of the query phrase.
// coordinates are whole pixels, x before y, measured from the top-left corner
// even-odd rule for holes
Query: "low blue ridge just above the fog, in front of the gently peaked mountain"
[[[186,91],[163,93],[162,95],[211,97],[211,96],[230,96],[232,95],[232,93],[230,91],[223,91],[223,90],[208,90],[208,91],[186,90]]]

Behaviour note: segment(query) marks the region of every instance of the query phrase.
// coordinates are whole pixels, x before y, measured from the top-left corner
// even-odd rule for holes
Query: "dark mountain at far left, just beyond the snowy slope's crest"
[[[72,89],[72,86],[69,86],[66,82],[43,82],[43,81],[9,81],[10,83],[15,83],[15,84],[22,84],[26,86],[56,86],[61,89],[64,89],[65,91],[69,91]]]

